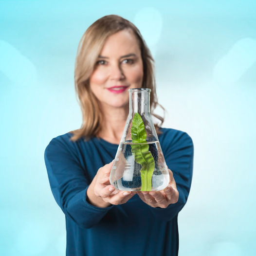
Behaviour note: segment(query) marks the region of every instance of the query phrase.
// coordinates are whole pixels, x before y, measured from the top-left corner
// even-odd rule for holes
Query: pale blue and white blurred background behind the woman
[[[81,125],[78,42],[109,14],[134,22],[152,51],[163,127],[194,141],[179,255],[256,255],[252,0],[0,0],[0,255],[65,255],[65,217],[43,154]]]

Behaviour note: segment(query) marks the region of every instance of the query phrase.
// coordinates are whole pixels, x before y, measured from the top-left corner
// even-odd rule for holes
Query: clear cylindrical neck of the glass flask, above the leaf
[[[129,91],[129,114],[150,115],[150,89],[131,89]]]

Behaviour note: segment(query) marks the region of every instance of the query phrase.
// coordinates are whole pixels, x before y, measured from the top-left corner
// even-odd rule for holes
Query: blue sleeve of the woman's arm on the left
[[[45,165],[55,201],[66,217],[81,228],[96,225],[113,207],[100,208],[87,201],[90,182],[73,148],[58,139],[52,139],[45,149]]]

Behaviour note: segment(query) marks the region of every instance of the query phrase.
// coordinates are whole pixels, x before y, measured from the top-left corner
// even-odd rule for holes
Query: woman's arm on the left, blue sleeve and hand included
[[[55,201],[64,214],[73,219],[79,227],[93,227],[113,204],[119,204],[121,201],[124,203],[133,196],[130,192],[128,195],[118,195],[117,191],[109,190],[113,186],[104,183],[98,184],[98,195],[95,195],[95,184],[97,180],[98,183],[102,180],[102,174],[110,173],[110,164],[101,167],[90,184],[86,170],[79,163],[74,149],[58,137],[46,147],[44,158]],[[106,197],[105,201],[103,197]]]

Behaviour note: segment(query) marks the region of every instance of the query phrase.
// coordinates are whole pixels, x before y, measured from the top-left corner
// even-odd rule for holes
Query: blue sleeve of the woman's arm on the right
[[[182,210],[190,191],[194,162],[194,144],[191,137],[186,132],[174,136],[164,157],[167,167],[173,172],[179,200],[166,208],[150,207],[150,210],[157,218],[169,221]]]

